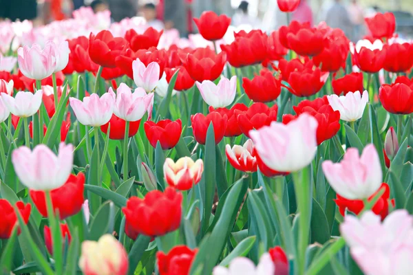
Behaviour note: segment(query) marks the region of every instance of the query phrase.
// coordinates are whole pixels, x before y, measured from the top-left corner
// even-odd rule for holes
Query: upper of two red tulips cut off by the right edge
[[[394,43],[384,45],[385,59],[383,68],[388,72],[406,72],[413,66],[413,44]]]

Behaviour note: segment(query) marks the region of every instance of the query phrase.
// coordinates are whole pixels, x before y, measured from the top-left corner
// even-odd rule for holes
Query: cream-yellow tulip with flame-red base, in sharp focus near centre
[[[191,157],[181,157],[173,162],[168,157],[165,159],[163,170],[169,186],[178,190],[189,190],[200,182],[204,171],[204,162],[202,162],[202,159],[197,159],[194,162]]]

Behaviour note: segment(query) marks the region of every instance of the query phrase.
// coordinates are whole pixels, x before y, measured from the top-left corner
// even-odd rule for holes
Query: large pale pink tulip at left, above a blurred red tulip
[[[63,186],[72,172],[73,145],[59,144],[59,155],[44,144],[33,151],[21,146],[14,149],[12,163],[17,177],[29,189],[53,190]]]

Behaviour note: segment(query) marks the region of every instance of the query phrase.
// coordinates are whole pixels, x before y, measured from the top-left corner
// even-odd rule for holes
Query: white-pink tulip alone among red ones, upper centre
[[[218,85],[210,80],[202,83],[197,81],[196,86],[207,104],[214,108],[227,107],[234,101],[237,93],[237,76],[233,76],[231,80],[222,77]]]

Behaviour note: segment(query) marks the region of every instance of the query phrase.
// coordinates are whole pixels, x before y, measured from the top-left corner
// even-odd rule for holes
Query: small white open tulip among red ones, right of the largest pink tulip
[[[331,95],[327,98],[332,109],[340,112],[341,120],[353,122],[363,116],[368,102],[368,92],[363,91],[363,96],[361,96],[360,91],[354,91],[346,96]]]

